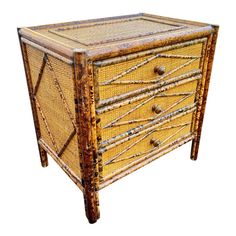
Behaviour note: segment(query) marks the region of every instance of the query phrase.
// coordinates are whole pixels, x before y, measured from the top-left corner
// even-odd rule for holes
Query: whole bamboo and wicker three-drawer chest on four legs
[[[90,223],[100,189],[189,141],[197,159],[217,32],[144,13],[18,29],[42,166]]]

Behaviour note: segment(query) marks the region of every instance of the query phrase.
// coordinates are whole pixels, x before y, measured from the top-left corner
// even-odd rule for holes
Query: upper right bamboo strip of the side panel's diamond
[[[69,116],[69,118],[70,118],[70,120],[71,120],[72,125],[73,125],[74,128],[75,128],[76,125],[75,125],[74,117],[73,117],[73,115],[72,115],[72,113],[71,113],[71,111],[70,111],[69,105],[68,105],[68,103],[67,103],[67,101],[66,101],[66,98],[65,98],[63,92],[62,92],[60,83],[58,82],[57,76],[56,76],[56,74],[55,74],[55,71],[53,70],[53,67],[52,67],[52,65],[51,65],[50,59],[49,59],[48,57],[46,57],[46,63],[47,63],[47,66],[48,66],[49,70],[51,71],[51,73],[52,73],[52,75],[53,75],[54,84],[55,84],[56,89],[57,89],[57,91],[58,91],[58,93],[59,93],[59,95],[60,95],[60,98],[61,98],[61,100],[62,100],[62,102],[63,102],[63,104],[64,104],[64,107],[65,107],[65,109],[66,109],[66,112],[67,112],[67,114],[68,114],[68,116]]]

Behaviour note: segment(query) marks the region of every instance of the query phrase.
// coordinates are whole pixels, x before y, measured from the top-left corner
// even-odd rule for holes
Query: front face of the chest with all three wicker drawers
[[[101,179],[194,137],[207,38],[94,63]]]

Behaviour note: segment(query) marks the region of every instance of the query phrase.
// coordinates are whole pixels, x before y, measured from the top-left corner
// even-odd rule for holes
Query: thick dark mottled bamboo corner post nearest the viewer
[[[93,65],[85,51],[74,51],[76,125],[86,216],[95,223],[99,213],[99,170],[93,85]]]

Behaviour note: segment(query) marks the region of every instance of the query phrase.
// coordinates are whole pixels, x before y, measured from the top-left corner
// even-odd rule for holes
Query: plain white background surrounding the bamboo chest
[[[1,1],[0,235],[235,236],[233,2]],[[199,159],[189,143],[105,188],[90,225],[80,190],[51,158],[40,165],[16,27],[139,12],[220,25]]]

